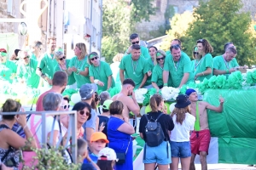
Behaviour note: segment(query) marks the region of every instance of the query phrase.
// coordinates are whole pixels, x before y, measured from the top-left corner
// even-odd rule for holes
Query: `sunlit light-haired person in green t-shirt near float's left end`
[[[38,61],[30,59],[26,51],[19,52],[20,64],[17,68],[17,78],[21,84],[27,87],[38,88],[40,77],[37,75]]]

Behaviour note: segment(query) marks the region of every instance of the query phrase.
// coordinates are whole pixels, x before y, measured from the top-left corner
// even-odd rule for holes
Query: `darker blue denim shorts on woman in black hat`
[[[186,158],[191,156],[190,142],[172,142],[172,157]]]

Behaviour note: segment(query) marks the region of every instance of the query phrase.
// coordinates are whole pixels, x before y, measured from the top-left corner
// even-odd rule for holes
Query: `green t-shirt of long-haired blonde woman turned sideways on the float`
[[[89,64],[87,62],[87,56],[84,57],[84,59],[79,60],[77,56],[74,56],[70,62],[68,67],[76,67],[79,71],[84,71],[85,68],[89,68]],[[90,83],[89,75],[87,77],[84,77],[83,75],[73,73],[73,77],[75,78],[77,82],[77,87],[80,88],[85,83]]]

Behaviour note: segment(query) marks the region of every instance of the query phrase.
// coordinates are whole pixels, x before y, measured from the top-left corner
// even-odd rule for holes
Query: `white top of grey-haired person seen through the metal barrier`
[[[34,118],[34,126],[37,124],[37,122],[42,119],[42,116],[38,116],[36,115],[35,118]],[[54,123],[54,117],[53,116],[47,116],[46,117],[46,134],[48,135],[48,133],[51,132],[51,129],[52,129],[52,126],[53,126],[53,123]],[[27,127],[29,129],[31,129],[31,117],[29,118],[29,120],[27,121]],[[59,123],[58,121],[55,121],[55,126],[54,126],[54,130],[57,130],[57,131],[60,131],[60,128],[59,128]],[[42,122],[38,124],[38,127],[36,128],[36,135],[38,137],[38,141],[40,144],[42,144]],[[35,135],[35,134],[32,134],[32,135]],[[59,137],[57,138],[56,142],[58,141]]]

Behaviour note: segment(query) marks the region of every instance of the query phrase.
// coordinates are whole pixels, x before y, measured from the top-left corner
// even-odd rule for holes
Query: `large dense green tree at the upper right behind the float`
[[[194,12],[195,22],[189,25],[183,39],[183,50],[190,53],[196,40],[205,38],[214,48],[212,56],[217,56],[224,54],[225,42],[234,42],[238,63],[252,64],[256,54],[255,32],[248,31],[251,26],[250,15],[240,9],[241,0],[201,1]]]

